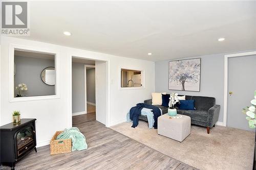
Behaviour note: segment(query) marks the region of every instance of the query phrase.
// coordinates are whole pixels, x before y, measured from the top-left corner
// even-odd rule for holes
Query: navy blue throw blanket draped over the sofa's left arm
[[[152,109],[152,112],[154,114],[154,125],[153,127],[155,129],[157,129],[157,119],[159,116],[161,116],[161,111],[158,107],[156,106],[152,106],[152,105],[147,105],[144,103],[138,103],[135,107],[132,107],[130,109],[130,119],[133,120],[133,128],[138,126],[139,123],[139,115],[141,114],[141,110],[143,108],[147,108],[147,109]]]

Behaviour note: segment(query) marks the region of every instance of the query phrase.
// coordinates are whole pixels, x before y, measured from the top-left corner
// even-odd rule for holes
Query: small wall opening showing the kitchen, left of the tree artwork
[[[121,68],[121,88],[144,87],[142,70]]]

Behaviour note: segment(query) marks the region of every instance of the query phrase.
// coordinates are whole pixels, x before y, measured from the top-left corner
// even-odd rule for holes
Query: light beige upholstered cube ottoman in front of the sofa
[[[181,142],[190,134],[191,119],[186,115],[180,118],[169,117],[167,113],[158,117],[158,134]]]

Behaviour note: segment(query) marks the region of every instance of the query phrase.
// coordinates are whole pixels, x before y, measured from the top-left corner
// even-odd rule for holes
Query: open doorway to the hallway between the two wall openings
[[[106,61],[72,56],[72,116],[95,114],[98,122],[106,124],[108,111],[106,68]]]

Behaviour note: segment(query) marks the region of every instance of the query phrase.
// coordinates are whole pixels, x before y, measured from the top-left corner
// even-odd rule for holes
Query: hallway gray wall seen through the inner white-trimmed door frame
[[[87,102],[95,103],[95,68],[86,70]]]

